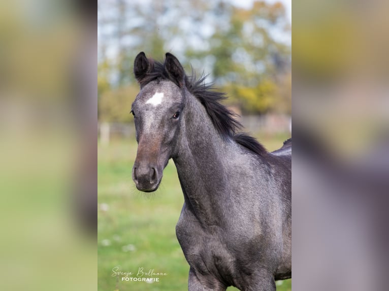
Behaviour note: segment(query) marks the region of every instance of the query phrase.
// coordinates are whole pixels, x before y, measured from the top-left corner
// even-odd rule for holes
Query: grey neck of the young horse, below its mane
[[[216,132],[200,102],[187,101],[185,111],[180,150],[174,162],[188,210],[201,223],[215,225],[223,215],[219,205],[228,195],[225,155],[229,152],[228,158],[234,158],[233,144]]]

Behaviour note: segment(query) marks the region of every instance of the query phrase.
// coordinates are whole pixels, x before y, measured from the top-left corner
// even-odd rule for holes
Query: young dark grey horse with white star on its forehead
[[[184,195],[176,236],[188,290],[276,290],[291,278],[291,139],[275,152],[241,132],[224,93],[166,53],[134,61],[138,190],[155,191],[173,159]]]

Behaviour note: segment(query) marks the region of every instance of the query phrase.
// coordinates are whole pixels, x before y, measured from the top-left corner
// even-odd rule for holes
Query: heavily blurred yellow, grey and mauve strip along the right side
[[[387,1],[293,1],[293,287],[386,290]]]

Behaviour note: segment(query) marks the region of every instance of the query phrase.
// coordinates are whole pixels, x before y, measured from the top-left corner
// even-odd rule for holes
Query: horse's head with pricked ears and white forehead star
[[[186,77],[181,64],[170,53],[166,54],[163,66],[139,53],[134,73],[141,90],[131,111],[138,142],[133,180],[138,190],[152,192],[158,188],[169,159],[177,153]]]

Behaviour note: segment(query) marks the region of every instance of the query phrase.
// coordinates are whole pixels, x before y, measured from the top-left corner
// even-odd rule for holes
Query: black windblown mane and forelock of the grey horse
[[[165,64],[153,59],[149,59],[149,64],[149,71],[140,82],[141,87],[155,80],[170,80],[176,83],[176,80],[165,69]],[[235,119],[238,115],[221,103],[227,98],[225,93],[217,92],[214,90],[213,84],[205,83],[206,77],[202,76],[197,79],[195,72],[192,70],[191,76],[185,76],[185,87],[203,104],[215,129],[223,137],[232,138],[257,155],[266,154],[267,151],[260,142],[249,134],[240,132],[243,126]]]

